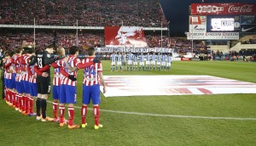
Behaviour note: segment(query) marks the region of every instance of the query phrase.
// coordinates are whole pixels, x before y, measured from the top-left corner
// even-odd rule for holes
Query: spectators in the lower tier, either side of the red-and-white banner
[[[105,46],[103,31],[79,31],[78,42],[76,31],[38,31],[35,34],[37,48],[45,48],[49,43],[55,43],[56,46],[69,48],[77,45],[81,48],[89,46],[102,48]],[[192,42],[185,38],[167,37],[156,34],[147,34],[145,36],[148,48],[174,48],[177,53],[190,53],[192,51]],[[33,32],[26,31],[1,31],[0,46],[3,48],[15,48],[22,45],[33,45]],[[201,41],[194,41],[194,53],[205,52],[206,46]]]

